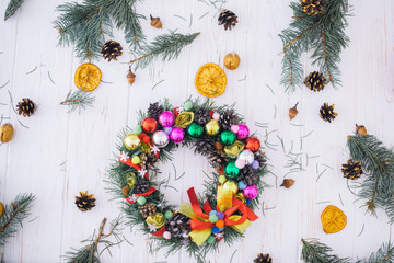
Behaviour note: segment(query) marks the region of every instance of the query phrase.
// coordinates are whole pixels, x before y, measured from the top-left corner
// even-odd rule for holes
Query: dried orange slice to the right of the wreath
[[[327,206],[321,216],[323,230],[325,233],[339,232],[346,227],[346,215],[336,206]]]

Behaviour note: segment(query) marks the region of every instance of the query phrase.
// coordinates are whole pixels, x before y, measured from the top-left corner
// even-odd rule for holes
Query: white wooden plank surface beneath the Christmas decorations
[[[0,14],[7,2],[0,2]],[[364,208],[359,208],[362,202],[356,202],[346,186],[340,164],[348,158],[346,136],[354,132],[356,123],[366,125],[386,146],[394,145],[394,1],[350,0],[355,15],[347,28],[350,46],[341,55],[343,88],[336,91],[328,85],[320,93],[303,88],[292,95],[283,93],[279,85],[278,54],[282,45],[277,36],[290,21],[289,1],[229,0],[224,7],[240,20],[231,32],[217,25],[216,10],[204,2],[143,1],[138,11],[147,16],[159,15],[163,21],[162,31],[142,21],[150,39],[175,28],[201,35],[182,52],[178,60],[155,61],[139,70],[132,87],[125,79],[127,65],[123,62],[131,59],[127,52],[118,61],[97,62],[103,80],[111,83],[102,83],[94,91],[94,107],[80,115],[69,115],[59,105],[68,91],[76,89],[73,72],[80,65],[72,47],[57,47],[51,21],[57,16],[55,7],[62,2],[26,0],[14,16],[0,23],[0,85],[9,81],[0,90],[0,102],[7,104],[0,105],[0,114],[10,117],[15,127],[13,140],[0,147],[0,201],[8,203],[21,192],[37,197],[30,217],[36,219],[26,221],[3,249],[7,262],[60,262],[60,255],[70,247],[79,247],[79,241],[88,238],[103,217],[115,218],[118,204],[109,201],[112,196],[103,181],[116,151],[117,133],[126,125],[132,127],[136,111],[146,110],[150,102],[169,96],[179,104],[188,95],[201,98],[194,88],[198,67],[206,62],[223,66],[223,56],[229,52],[240,55],[241,66],[235,71],[225,70],[227,91],[216,102],[236,102],[236,110],[263,141],[266,132],[275,130],[267,141],[276,150],[267,148],[266,152],[278,179],[267,178],[273,187],[262,194],[265,210],[257,211],[260,218],[247,229],[246,238],[231,248],[221,244],[220,252],[207,260],[230,262],[233,255],[232,262],[252,262],[264,252],[274,262],[301,262],[301,238],[320,238],[339,255],[356,259],[369,255],[390,239],[392,228],[386,216],[381,210],[378,218],[364,215]],[[115,32],[115,39],[126,47],[121,32]],[[305,71],[315,70],[306,57],[303,61]],[[34,72],[26,75],[35,67]],[[152,90],[161,80],[164,81]],[[39,105],[36,114],[31,118],[18,116],[11,110],[8,90],[14,106],[22,98],[34,100]],[[297,102],[300,113],[292,123],[302,126],[291,125],[288,118],[288,108]],[[318,117],[324,102],[336,105],[338,117],[332,124]],[[269,123],[267,130],[256,127],[255,122]],[[287,175],[297,181],[290,190],[278,187],[290,171],[278,136],[285,138],[286,152],[293,145],[292,151],[302,153],[304,171]],[[301,142],[302,136],[306,137]],[[188,201],[188,187],[197,185],[197,191],[202,190],[201,167],[211,170],[204,158],[189,149],[178,150],[175,157],[177,172],[185,171],[186,175],[173,182],[179,192],[169,188],[166,194],[178,204],[181,199]],[[163,176],[170,173],[174,179],[170,164],[162,170]],[[97,202],[91,211],[81,213],[73,204],[74,196],[85,190],[94,193]],[[325,235],[322,230],[320,215],[328,204],[338,206],[348,217],[348,225],[338,233]],[[134,245],[124,242],[112,250],[112,258],[104,253],[103,262],[194,262],[185,251],[170,258],[164,256],[164,251],[150,254],[149,240],[137,228],[125,227],[124,236]]]

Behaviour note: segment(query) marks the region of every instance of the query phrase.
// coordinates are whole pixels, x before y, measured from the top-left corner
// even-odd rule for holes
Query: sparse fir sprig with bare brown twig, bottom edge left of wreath
[[[104,218],[103,221],[100,225],[99,235],[93,235],[82,240],[82,243],[86,243],[84,247],[80,249],[73,249],[71,252],[67,252],[67,255],[65,255],[66,262],[68,263],[100,263],[100,255],[105,250],[109,251],[109,248],[119,244],[123,240],[118,236],[119,232],[119,225],[120,225],[120,218],[116,218],[109,227],[109,232],[104,233],[104,227],[107,219]],[[114,236],[115,242],[111,241],[108,238],[111,236]],[[104,247],[104,248],[99,248]],[[101,250],[100,250],[101,249]]]

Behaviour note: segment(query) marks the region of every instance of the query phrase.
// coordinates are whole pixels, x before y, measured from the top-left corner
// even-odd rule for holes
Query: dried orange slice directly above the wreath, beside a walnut
[[[227,84],[227,77],[219,65],[202,65],[195,79],[197,91],[205,96],[219,96],[223,94]]]

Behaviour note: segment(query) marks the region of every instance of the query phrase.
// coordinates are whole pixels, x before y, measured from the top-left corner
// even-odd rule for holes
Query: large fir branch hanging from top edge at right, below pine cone
[[[300,56],[312,50],[312,66],[318,67],[334,88],[340,85],[340,52],[348,46],[345,34],[349,16],[348,0],[325,0],[323,11],[316,15],[304,12],[300,1],[290,3],[293,21],[279,35],[283,43],[281,84],[294,91],[303,82]]]

